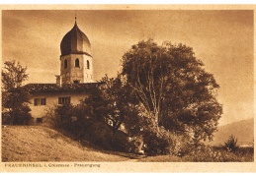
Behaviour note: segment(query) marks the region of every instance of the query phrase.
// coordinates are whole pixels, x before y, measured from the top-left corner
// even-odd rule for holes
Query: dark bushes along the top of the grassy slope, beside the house
[[[127,135],[117,131],[113,140],[113,128],[92,115],[90,107],[81,102],[76,106],[72,104],[55,106],[54,112],[48,109],[47,119],[51,120],[55,117],[51,124],[57,129],[71,133],[77,141],[89,141],[101,148],[126,151],[129,146]]]

